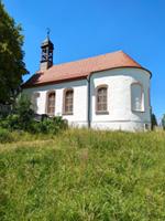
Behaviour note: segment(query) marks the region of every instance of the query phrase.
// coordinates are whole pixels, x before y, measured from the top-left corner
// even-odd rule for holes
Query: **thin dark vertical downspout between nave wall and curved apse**
[[[88,122],[88,128],[91,127],[91,119],[90,119],[90,113],[91,113],[91,104],[90,104],[90,74],[87,76],[87,122]]]

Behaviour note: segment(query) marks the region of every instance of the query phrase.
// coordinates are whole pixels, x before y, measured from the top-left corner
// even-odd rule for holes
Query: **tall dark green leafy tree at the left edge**
[[[0,0],[0,103],[11,104],[28,73],[23,62],[23,35]]]

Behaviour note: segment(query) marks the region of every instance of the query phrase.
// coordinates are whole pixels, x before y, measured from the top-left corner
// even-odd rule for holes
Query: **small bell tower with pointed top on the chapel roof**
[[[53,66],[53,50],[54,45],[50,40],[50,29],[47,29],[47,36],[42,42],[41,45],[42,49],[42,55],[41,55],[41,62],[40,62],[40,70],[45,71]]]

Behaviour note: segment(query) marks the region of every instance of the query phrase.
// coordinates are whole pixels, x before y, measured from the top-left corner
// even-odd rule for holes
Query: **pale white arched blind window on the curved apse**
[[[131,85],[131,105],[134,112],[144,110],[144,92],[140,83],[133,83]]]

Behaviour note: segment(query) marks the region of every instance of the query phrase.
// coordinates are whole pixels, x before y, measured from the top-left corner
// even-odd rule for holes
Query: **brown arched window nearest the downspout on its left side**
[[[74,108],[74,90],[66,90],[64,92],[64,114],[73,114]]]

